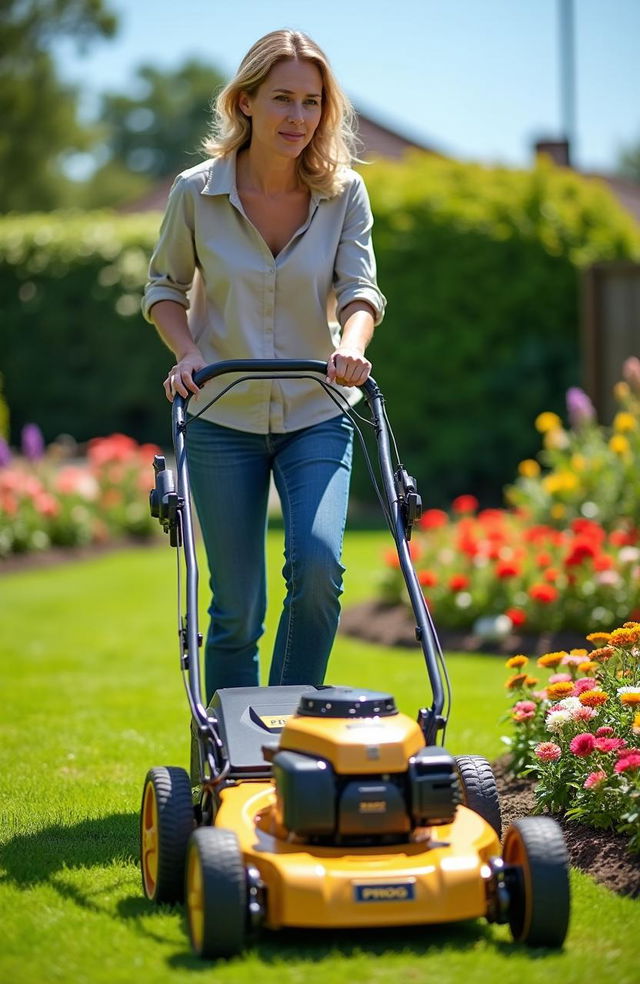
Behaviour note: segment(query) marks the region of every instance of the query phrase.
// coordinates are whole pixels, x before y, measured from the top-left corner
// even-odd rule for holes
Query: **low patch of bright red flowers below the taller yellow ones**
[[[471,496],[453,518],[427,510],[411,540],[418,579],[436,622],[496,639],[527,633],[611,629],[640,614],[638,530],[607,531],[574,519],[563,530],[514,510],[475,512]],[[456,518],[456,514],[458,518]],[[405,597],[395,550],[385,556],[383,600]]]

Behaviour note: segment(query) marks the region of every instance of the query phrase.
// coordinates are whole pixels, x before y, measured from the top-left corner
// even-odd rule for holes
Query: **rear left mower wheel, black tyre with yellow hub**
[[[140,810],[142,888],[152,902],[182,902],[187,844],[194,826],[185,769],[160,766],[144,781]]]

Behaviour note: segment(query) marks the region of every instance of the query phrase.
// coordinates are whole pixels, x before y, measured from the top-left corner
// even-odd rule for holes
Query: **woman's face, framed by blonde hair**
[[[273,66],[259,89],[239,99],[251,118],[251,147],[295,159],[311,142],[322,115],[322,76],[313,62],[288,58]]]

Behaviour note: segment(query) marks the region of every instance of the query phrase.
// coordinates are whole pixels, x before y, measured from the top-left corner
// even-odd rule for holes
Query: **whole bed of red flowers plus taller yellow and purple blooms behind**
[[[615,387],[613,426],[600,426],[576,387],[569,427],[544,412],[543,448],[520,465],[507,508],[478,511],[472,495],[451,515],[427,509],[411,541],[438,625],[499,641],[514,630],[584,635],[640,617],[640,360]],[[407,600],[394,550],[382,600]]]

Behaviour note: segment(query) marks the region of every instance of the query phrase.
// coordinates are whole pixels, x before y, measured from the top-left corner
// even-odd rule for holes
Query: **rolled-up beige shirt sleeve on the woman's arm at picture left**
[[[193,203],[187,182],[179,176],[169,193],[158,243],[149,262],[149,280],[142,299],[147,321],[151,321],[151,308],[158,301],[177,301],[188,309],[187,293],[195,269]]]

